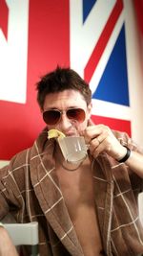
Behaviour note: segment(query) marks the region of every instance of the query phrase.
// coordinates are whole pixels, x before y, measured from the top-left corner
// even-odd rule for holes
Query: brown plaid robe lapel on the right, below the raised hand
[[[95,204],[102,236],[104,250],[108,256],[111,251],[111,225],[112,225],[112,196],[113,180],[112,169],[106,154],[100,154],[93,164]]]

